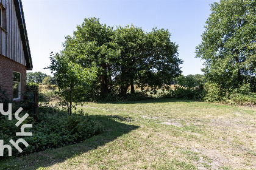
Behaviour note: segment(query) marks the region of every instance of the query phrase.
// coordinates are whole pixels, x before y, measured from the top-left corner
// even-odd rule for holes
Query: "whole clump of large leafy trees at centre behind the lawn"
[[[134,84],[152,88],[180,75],[182,60],[170,36],[165,29],[149,33],[134,25],[113,29],[99,19],[86,18],[73,36],[66,36],[62,55],[83,68],[97,68],[94,91],[104,96],[115,87],[125,96],[129,86],[134,93]]]

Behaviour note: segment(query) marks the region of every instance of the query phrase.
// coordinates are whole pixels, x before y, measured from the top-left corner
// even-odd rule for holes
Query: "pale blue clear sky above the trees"
[[[203,61],[194,58],[201,42],[210,4],[218,0],[22,0],[34,69],[51,75],[49,53],[62,50],[66,35],[73,35],[84,18],[99,18],[101,24],[133,24],[146,32],[168,29],[179,45],[183,75],[201,73]]]

